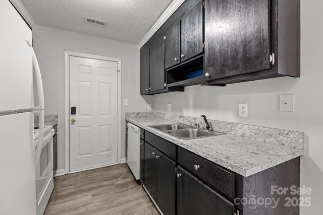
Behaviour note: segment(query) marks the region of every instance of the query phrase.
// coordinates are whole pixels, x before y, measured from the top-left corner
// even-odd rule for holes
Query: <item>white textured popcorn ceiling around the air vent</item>
[[[138,44],[172,0],[20,0],[37,25]],[[106,27],[84,22],[106,21]]]

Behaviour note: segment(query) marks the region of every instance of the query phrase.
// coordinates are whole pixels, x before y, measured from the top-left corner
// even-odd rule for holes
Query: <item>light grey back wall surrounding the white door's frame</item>
[[[58,170],[64,169],[64,51],[121,58],[122,73],[122,158],[125,157],[124,113],[147,111],[152,96],[140,96],[140,51],[135,44],[78,34],[54,28],[33,28],[33,46],[42,74],[45,114],[58,114]],[[128,99],[128,106],[123,105]]]

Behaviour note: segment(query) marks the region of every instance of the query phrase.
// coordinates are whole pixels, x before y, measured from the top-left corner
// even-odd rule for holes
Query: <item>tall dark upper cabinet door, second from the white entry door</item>
[[[150,92],[164,90],[165,83],[165,58],[164,35],[159,37],[150,47],[149,52],[149,85]]]

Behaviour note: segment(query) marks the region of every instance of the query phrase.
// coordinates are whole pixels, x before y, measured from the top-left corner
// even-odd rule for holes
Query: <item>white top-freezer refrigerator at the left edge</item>
[[[35,165],[40,156],[34,148],[34,113],[40,114],[42,138],[41,77],[31,29],[9,0],[0,1],[0,28],[0,214],[34,215]],[[33,66],[38,107],[33,107]]]

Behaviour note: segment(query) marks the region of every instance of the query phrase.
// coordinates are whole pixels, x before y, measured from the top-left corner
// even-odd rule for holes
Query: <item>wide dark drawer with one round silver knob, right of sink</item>
[[[235,175],[224,168],[178,147],[178,163],[211,188],[229,199],[235,197]],[[195,166],[196,165],[196,166]],[[194,167],[195,166],[195,167]],[[197,168],[197,170],[195,170]]]

